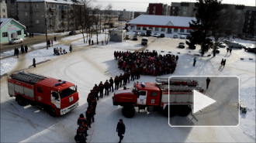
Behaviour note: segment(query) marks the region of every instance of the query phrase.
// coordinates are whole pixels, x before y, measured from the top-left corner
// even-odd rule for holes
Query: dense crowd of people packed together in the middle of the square
[[[173,73],[178,62],[178,55],[166,54],[162,56],[157,54],[156,51],[135,51],[133,53],[130,51],[115,51],[114,56],[118,60],[119,69],[130,72],[132,79],[133,77],[140,78],[140,74],[161,76]]]

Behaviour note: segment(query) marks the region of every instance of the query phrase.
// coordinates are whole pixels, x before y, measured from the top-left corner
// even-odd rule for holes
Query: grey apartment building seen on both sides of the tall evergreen
[[[223,11],[234,12],[233,34],[255,36],[255,6],[223,4]],[[195,2],[171,2],[171,15],[195,17]]]

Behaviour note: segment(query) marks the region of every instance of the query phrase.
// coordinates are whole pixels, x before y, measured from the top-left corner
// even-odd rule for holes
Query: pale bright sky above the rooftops
[[[196,2],[195,0],[96,0],[94,5],[102,5],[102,9],[111,4],[114,10],[134,11],[134,12],[146,12],[148,3],[164,3],[171,5],[171,2]],[[235,4],[235,5],[248,5],[255,6],[254,0],[223,0],[222,3]]]

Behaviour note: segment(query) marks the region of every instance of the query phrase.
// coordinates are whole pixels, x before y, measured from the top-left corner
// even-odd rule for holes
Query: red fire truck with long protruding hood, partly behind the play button
[[[134,83],[132,90],[116,90],[113,105],[123,107],[124,117],[133,117],[136,110],[160,109],[165,115],[187,116],[192,111],[193,90],[203,93],[196,80],[156,78],[156,83]],[[169,96],[168,96],[169,95]],[[168,102],[169,100],[169,102]],[[146,108],[147,107],[147,108]],[[170,108],[170,110],[168,110]]]

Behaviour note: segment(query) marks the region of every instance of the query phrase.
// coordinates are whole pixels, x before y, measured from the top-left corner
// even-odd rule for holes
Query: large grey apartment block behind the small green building
[[[16,0],[18,19],[28,32],[70,31],[74,26],[71,0]]]

